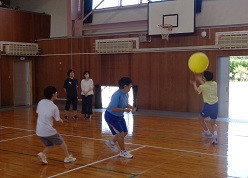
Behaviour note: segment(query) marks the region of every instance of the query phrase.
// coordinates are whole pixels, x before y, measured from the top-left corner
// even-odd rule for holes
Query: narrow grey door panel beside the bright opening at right
[[[217,59],[219,117],[229,116],[229,71],[230,57],[219,57]]]

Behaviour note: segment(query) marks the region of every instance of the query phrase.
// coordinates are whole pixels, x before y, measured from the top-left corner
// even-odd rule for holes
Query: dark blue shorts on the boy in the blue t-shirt
[[[124,117],[115,116],[108,111],[105,111],[104,116],[113,135],[127,132],[127,125]]]

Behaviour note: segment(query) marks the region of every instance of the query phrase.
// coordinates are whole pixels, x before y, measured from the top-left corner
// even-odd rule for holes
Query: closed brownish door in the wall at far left
[[[30,62],[14,62],[14,106],[30,105]]]

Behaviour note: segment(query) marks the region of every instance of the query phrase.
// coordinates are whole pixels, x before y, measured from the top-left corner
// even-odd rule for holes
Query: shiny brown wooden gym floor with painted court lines
[[[134,158],[123,159],[105,145],[111,134],[102,113],[94,113],[91,120],[54,122],[77,161],[65,164],[55,147],[42,165],[36,119],[34,108],[0,111],[0,177],[248,176],[247,123],[218,122],[219,144],[211,145],[195,119],[126,115],[125,142]]]

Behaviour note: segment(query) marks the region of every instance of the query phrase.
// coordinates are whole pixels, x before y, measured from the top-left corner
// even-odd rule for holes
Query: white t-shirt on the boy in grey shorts
[[[57,134],[53,128],[53,118],[60,120],[58,107],[48,99],[42,99],[37,106],[38,120],[36,125],[36,134],[40,137],[49,137]]]

